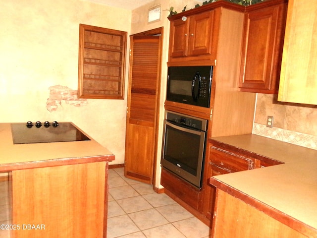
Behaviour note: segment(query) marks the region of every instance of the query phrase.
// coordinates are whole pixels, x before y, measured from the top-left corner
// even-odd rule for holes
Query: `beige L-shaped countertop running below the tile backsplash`
[[[271,215],[278,211],[317,231],[317,150],[252,134],[212,140],[285,163],[214,176],[212,185],[238,190],[271,208]]]

